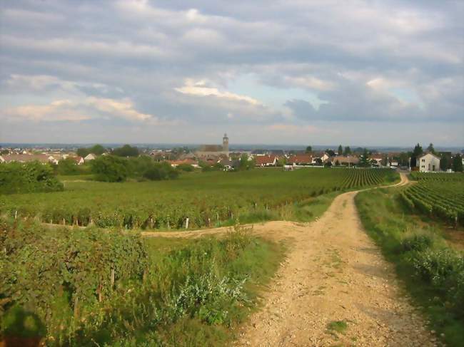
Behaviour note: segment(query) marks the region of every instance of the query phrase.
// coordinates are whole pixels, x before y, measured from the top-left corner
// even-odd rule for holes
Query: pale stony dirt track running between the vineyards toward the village
[[[407,183],[401,175],[398,185]],[[254,233],[291,240],[291,247],[237,346],[435,346],[423,318],[400,291],[393,266],[363,231],[356,193],[336,197],[316,222],[254,226]],[[145,236],[201,237],[226,230]],[[328,329],[333,321],[344,321],[346,329]]]

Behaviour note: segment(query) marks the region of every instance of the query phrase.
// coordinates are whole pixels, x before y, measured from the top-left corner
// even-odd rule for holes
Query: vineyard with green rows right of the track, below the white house
[[[464,225],[463,174],[414,172],[411,176],[417,184],[401,194],[411,209],[455,226]]]

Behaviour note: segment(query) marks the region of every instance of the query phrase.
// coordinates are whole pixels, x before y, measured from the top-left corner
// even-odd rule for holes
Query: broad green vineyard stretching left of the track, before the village
[[[64,182],[64,192],[0,195],[0,213],[54,224],[127,229],[215,227],[278,212],[328,192],[393,182],[373,169],[191,172],[176,181]],[[76,180],[77,181],[77,180]]]

